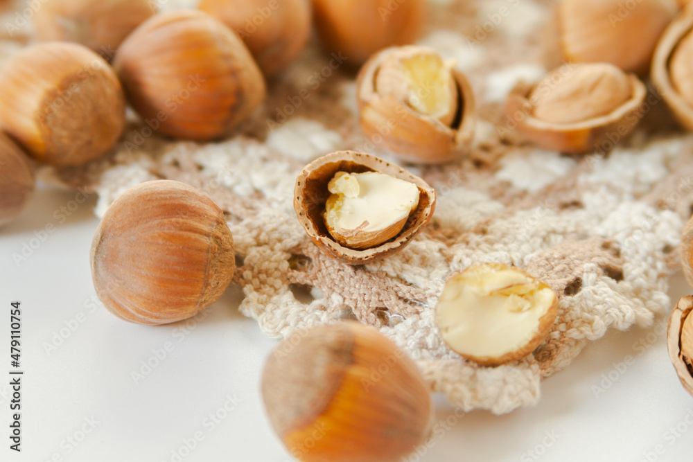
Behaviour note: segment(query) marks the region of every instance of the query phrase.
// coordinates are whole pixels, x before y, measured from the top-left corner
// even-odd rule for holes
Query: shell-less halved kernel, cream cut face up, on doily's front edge
[[[436,310],[444,341],[483,365],[516,361],[532,352],[556,319],[558,296],[522,270],[475,265],[448,280]]]

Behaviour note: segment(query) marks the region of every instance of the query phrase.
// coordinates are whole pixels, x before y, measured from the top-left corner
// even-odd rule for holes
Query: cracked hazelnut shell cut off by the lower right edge
[[[667,348],[683,388],[693,396],[693,296],[678,301],[669,317]]]

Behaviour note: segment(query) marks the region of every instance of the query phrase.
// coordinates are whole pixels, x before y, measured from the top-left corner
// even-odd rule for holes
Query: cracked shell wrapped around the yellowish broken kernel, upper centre
[[[421,114],[389,91],[378,91],[376,77],[385,62],[428,53],[436,52],[423,46],[387,48],[364,64],[356,82],[361,130],[412,163],[444,163],[461,157],[468,152],[476,127],[474,93],[464,74],[455,69],[450,72],[457,86],[457,114],[450,125]]]

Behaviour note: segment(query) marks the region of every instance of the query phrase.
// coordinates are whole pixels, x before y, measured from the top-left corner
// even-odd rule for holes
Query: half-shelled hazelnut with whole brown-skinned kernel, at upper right
[[[568,64],[536,85],[515,87],[506,115],[530,141],[581,154],[629,134],[640,121],[646,95],[635,75],[612,64]]]

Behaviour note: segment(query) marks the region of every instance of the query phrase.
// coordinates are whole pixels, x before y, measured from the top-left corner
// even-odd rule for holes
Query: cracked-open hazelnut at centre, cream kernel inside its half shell
[[[379,175],[358,175],[366,172]],[[353,193],[349,188],[355,188],[354,178],[359,194],[351,199],[356,200],[340,198],[340,193],[342,196]],[[340,179],[341,184],[337,184]],[[418,197],[412,195],[411,186],[399,181],[413,184]],[[378,182],[382,184],[374,184]],[[365,187],[361,189],[362,186]],[[394,189],[386,190],[390,187]],[[331,193],[331,188],[337,191],[337,197]],[[394,197],[396,195],[400,197]],[[365,207],[372,210],[366,212]],[[301,171],[296,180],[294,208],[299,222],[317,247],[344,263],[361,265],[400,251],[423,231],[435,210],[435,190],[421,178],[382,159],[339,151],[315,159]],[[394,208],[398,210],[391,210]],[[371,212],[375,211],[383,216],[373,217]],[[341,216],[353,212],[356,215]],[[377,225],[376,229],[369,227],[370,220]],[[367,221],[369,223],[365,224]]]

